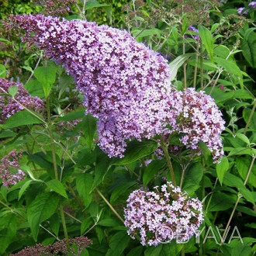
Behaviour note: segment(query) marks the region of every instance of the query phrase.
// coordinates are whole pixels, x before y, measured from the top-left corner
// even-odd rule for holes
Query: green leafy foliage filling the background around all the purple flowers
[[[72,5],[67,19],[83,18],[82,4]],[[84,18],[128,29],[168,59],[178,89],[203,89],[223,112],[225,156],[219,164],[213,164],[203,145],[202,156],[194,159],[187,150],[170,154],[178,184],[183,178],[182,189],[204,203],[201,230],[211,227],[219,244],[213,238],[204,240],[213,235],[206,234],[207,229],[199,243],[193,237],[188,244],[142,247],[139,240],[130,239],[122,222],[126,199],[141,185],[152,188],[163,177],[170,180],[166,161],[154,157],[156,145],[151,141],[130,142],[124,158],[109,159],[96,144],[96,119],[85,116],[73,79],[2,26],[0,77],[22,81],[30,95],[43,99],[47,110],[41,121],[23,110],[0,125],[0,156],[22,150],[21,168],[26,172],[22,182],[0,188],[0,254],[82,235],[93,243],[81,255],[254,254],[256,34],[255,9],[248,4],[92,0],[85,5]],[[43,11],[28,1],[2,1],[1,6],[1,19]],[[247,15],[237,15],[240,7]],[[147,165],[148,159],[153,161]],[[239,238],[228,243],[234,227],[244,244]]]

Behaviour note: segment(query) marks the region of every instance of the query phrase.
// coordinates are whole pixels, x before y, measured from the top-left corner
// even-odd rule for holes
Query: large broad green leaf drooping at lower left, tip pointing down
[[[58,204],[59,197],[50,192],[37,195],[36,199],[29,204],[27,209],[28,222],[35,241],[37,241],[40,223],[55,213]]]

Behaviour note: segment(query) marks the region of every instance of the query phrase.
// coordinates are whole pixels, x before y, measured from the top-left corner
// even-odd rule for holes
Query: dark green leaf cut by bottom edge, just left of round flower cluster
[[[106,256],[119,256],[123,253],[126,246],[130,242],[130,237],[126,231],[119,231],[114,234],[109,241],[109,251],[107,251]]]

